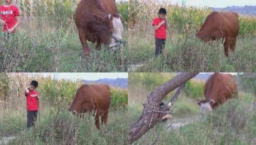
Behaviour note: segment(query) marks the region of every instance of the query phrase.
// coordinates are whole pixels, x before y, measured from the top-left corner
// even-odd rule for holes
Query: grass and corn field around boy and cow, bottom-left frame
[[[40,113],[35,127],[26,130],[27,111],[23,88],[32,79],[39,82],[37,91],[40,95]],[[3,95],[1,91],[7,91],[6,105],[0,104],[0,141],[12,135],[15,139],[8,142],[8,145],[125,145],[128,134],[127,90],[111,88],[108,124],[101,125],[98,130],[92,114],[80,118],[67,110],[78,87],[83,83],[81,80],[1,73],[0,81],[0,87],[3,88],[0,96]]]

